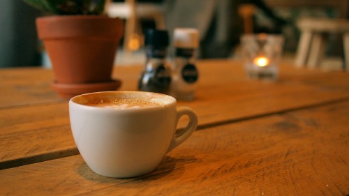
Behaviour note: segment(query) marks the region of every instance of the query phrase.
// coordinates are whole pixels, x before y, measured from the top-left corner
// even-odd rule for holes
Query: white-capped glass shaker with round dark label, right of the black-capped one
[[[198,68],[195,66],[199,46],[197,29],[174,29],[174,62],[170,95],[178,100],[193,100],[198,83]]]

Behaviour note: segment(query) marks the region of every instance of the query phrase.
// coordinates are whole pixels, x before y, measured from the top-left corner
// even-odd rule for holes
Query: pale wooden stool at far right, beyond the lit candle
[[[302,18],[297,22],[301,31],[295,64],[298,67],[315,68],[320,65],[327,45],[326,33],[343,35],[345,66],[349,68],[349,20],[326,18]],[[308,55],[309,54],[309,55]]]

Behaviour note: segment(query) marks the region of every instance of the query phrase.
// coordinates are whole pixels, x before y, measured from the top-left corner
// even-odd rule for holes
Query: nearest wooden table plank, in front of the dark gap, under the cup
[[[80,156],[0,171],[1,195],[348,195],[349,100],[199,130],[133,179]]]

